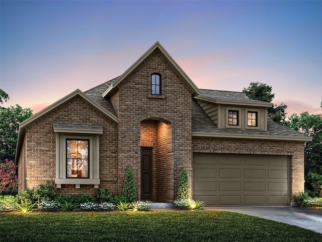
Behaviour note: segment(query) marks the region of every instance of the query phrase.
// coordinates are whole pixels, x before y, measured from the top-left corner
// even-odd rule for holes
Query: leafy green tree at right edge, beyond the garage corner
[[[312,137],[312,141],[304,145],[305,176],[309,171],[322,174],[322,114],[293,113],[286,125]]]

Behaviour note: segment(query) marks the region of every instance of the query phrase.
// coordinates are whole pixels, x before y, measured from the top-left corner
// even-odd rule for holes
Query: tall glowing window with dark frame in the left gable
[[[67,178],[90,178],[89,145],[88,139],[66,139]]]

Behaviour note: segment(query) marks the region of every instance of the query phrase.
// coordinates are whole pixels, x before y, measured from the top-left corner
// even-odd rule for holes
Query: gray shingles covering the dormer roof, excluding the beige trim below
[[[244,92],[200,89],[199,96],[208,97],[216,100],[224,100],[224,101],[266,103],[266,102],[250,99],[248,96],[246,96]]]

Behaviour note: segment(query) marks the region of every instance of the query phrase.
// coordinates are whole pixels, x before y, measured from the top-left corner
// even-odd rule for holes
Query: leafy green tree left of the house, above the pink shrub
[[[0,107],[0,160],[15,160],[19,124],[32,115],[30,108],[19,104]]]

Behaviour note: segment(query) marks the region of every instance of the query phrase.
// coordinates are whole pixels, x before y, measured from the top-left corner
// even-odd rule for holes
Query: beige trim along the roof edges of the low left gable
[[[118,123],[118,118],[111,113],[110,111],[106,110],[104,107],[102,107],[100,104],[92,100],[89,96],[87,96],[84,92],[82,92],[79,89],[76,89],[72,93],[68,94],[67,96],[61,98],[57,102],[49,105],[48,107],[44,108],[40,112],[37,112],[36,114],[32,115],[30,118],[24,120],[19,125],[19,135],[18,135],[18,142],[17,142],[17,153],[16,153],[16,159],[20,156],[21,146],[24,140],[25,136],[25,129],[27,126],[31,125],[32,123],[36,122],[38,119],[42,118],[43,116],[47,115],[49,112],[55,110],[56,108],[60,107],[64,103],[68,102],[74,97],[80,97],[84,101],[86,101],[88,104],[90,104],[92,107],[94,107],[96,110],[101,112],[103,115],[108,117],[110,120],[112,120],[115,124]]]

